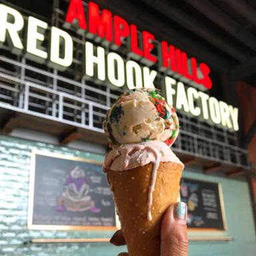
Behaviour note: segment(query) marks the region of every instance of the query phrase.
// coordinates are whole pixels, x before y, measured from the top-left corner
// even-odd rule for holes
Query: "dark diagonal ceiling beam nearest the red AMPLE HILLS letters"
[[[227,42],[223,39],[223,37],[219,36],[217,33],[214,33],[212,29],[206,26],[202,26],[202,24],[195,19],[195,17],[185,13],[180,8],[175,6],[172,1],[154,1],[151,3],[150,0],[142,0],[143,3],[150,5],[159,13],[163,15],[168,14],[168,18],[173,21],[179,23],[181,26],[185,27],[189,31],[192,31],[199,37],[211,43],[211,45],[217,47],[224,53],[227,53],[237,61],[245,61],[248,57],[245,55],[241,49],[232,45],[232,42]]]

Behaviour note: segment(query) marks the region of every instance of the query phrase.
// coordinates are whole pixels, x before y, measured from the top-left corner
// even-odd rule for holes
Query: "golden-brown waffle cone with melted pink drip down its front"
[[[147,219],[147,200],[153,163],[128,171],[107,171],[129,256],[159,256],[161,219],[177,201],[183,165],[161,162],[157,170],[152,220]]]

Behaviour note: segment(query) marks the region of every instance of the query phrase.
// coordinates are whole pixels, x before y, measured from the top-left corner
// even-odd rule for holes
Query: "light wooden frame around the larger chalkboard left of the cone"
[[[117,214],[115,213],[115,226],[79,226],[79,225],[37,225],[33,224],[33,207],[34,207],[34,187],[35,187],[35,161],[37,155],[43,155],[46,157],[53,157],[57,159],[66,159],[71,161],[79,161],[83,163],[93,163],[95,165],[103,165],[101,161],[95,161],[91,159],[84,159],[80,157],[73,157],[69,155],[61,155],[58,153],[51,153],[46,151],[33,150],[31,153],[31,165],[30,165],[30,176],[29,176],[29,203],[28,203],[28,215],[27,215],[27,227],[28,229],[39,229],[39,230],[117,230],[120,228],[120,223]]]

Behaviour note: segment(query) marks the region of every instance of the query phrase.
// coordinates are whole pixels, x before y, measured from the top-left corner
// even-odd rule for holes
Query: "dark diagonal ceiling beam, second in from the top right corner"
[[[213,21],[219,27],[227,31],[230,35],[247,45],[253,51],[256,51],[256,37],[245,29],[242,25],[233,20],[229,15],[221,11],[209,0],[185,0],[201,14]]]

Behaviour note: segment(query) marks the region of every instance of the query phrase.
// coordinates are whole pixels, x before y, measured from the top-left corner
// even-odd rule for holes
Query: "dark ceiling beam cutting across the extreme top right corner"
[[[246,1],[241,0],[221,0],[224,3],[227,3],[231,8],[233,8],[237,13],[245,17],[247,21],[253,23],[256,26],[256,12],[254,9],[246,3]]]

